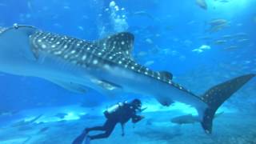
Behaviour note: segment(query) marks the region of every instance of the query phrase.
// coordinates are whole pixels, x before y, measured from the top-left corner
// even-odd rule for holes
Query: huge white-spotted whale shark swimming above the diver
[[[81,94],[91,89],[110,96],[150,96],[163,106],[183,102],[198,111],[206,134],[212,133],[218,107],[255,76],[230,79],[198,96],[174,82],[170,72],[150,70],[134,61],[133,48],[134,35],[129,32],[86,41],[14,24],[0,29],[0,71],[43,78]]]

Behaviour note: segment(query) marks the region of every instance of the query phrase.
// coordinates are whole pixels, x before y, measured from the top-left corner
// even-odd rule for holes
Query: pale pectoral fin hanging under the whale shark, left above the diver
[[[66,89],[66,90],[70,90],[74,93],[78,93],[78,94],[86,94],[87,89],[86,86],[82,86],[78,83],[74,83],[74,82],[62,82],[59,80],[54,80],[54,79],[47,79],[50,82],[53,82],[54,84],[61,86],[62,88]]]

